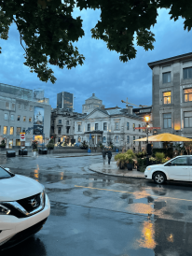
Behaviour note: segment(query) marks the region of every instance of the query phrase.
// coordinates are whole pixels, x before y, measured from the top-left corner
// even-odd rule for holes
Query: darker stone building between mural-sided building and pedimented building
[[[75,118],[81,116],[82,114],[66,109],[52,109],[50,136],[53,136],[54,142],[65,142],[67,145],[71,145],[71,139],[74,138]]]

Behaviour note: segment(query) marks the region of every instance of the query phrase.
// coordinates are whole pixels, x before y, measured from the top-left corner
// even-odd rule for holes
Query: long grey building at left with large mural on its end
[[[0,141],[7,148],[21,146],[20,134],[26,132],[25,145],[35,139],[48,142],[50,135],[48,98],[34,99],[33,90],[0,83]]]

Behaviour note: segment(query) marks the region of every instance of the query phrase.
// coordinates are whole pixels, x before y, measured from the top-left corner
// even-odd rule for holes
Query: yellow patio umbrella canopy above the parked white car
[[[146,141],[146,137],[135,139],[134,141]],[[192,139],[179,135],[160,134],[149,136],[148,141],[192,141]]]

